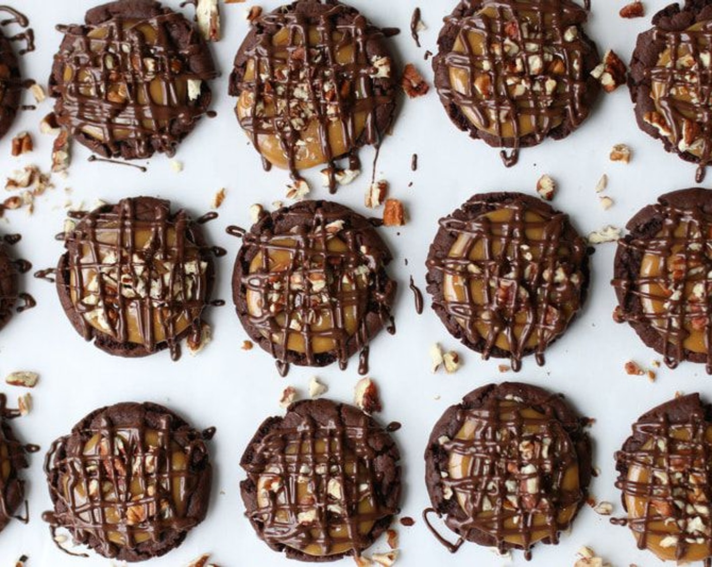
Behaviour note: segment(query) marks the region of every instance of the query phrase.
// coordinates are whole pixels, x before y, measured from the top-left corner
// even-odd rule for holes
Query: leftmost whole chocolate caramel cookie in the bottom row
[[[207,513],[206,436],[157,404],[95,410],[48,451],[54,511],[43,519],[108,558],[164,555]]]

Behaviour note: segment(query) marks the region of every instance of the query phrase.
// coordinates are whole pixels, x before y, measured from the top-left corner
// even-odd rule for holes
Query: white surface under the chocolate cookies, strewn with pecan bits
[[[645,2],[648,15],[633,21],[619,18],[623,1],[593,0],[589,26],[601,53],[612,47],[626,61],[636,35],[649,25],[649,17],[664,7],[663,0]],[[61,36],[56,24],[78,23],[85,9],[95,4],[91,0],[13,0],[16,8],[26,12],[37,36],[37,51],[23,58],[26,76],[46,82],[53,53]],[[171,0],[177,8],[178,1]],[[429,63],[423,61],[426,48],[436,51],[435,42],[441,19],[454,6],[453,0],[428,0],[421,4],[423,19],[429,29],[421,33],[423,48],[418,49],[409,36],[409,22],[417,2],[414,0],[368,1],[352,0],[379,26],[398,26],[402,33],[392,40],[394,51],[402,61],[414,61],[430,78]],[[192,358],[187,354],[177,363],[163,352],[145,359],[110,357],[87,344],[70,327],[53,285],[23,278],[23,287],[36,297],[38,306],[14,317],[0,333],[0,374],[18,370],[35,370],[41,381],[32,394],[35,408],[28,417],[14,422],[16,432],[26,442],[41,445],[42,451],[30,457],[26,471],[30,523],[13,521],[0,533],[0,566],[14,565],[18,556],[26,553],[38,566],[110,566],[110,561],[92,554],[89,559],[70,558],[58,551],[41,521],[42,511],[50,499],[43,478],[43,454],[53,439],[66,434],[88,412],[104,404],[134,400],[151,400],[167,404],[187,417],[197,428],[216,426],[211,443],[214,461],[214,491],[208,517],[194,529],[187,541],[176,551],[150,562],[155,567],[179,567],[204,552],[214,553],[221,566],[282,566],[288,563],[273,553],[253,533],[244,518],[239,496],[239,481],[244,474],[239,469],[239,457],[258,424],[269,415],[281,412],[278,398],[287,384],[302,392],[314,374],[328,384],[328,395],[350,402],[358,379],[357,360],[352,360],[346,372],[337,367],[314,371],[293,368],[286,379],[278,376],[273,360],[261,349],[241,350],[246,334],[241,329],[230,301],[232,262],[239,240],[225,234],[229,224],[246,226],[251,203],[269,205],[283,199],[288,175],[281,170],[264,173],[261,163],[246,137],[239,130],[227,96],[227,79],[231,62],[248,26],[244,9],[249,4],[223,6],[224,39],[212,46],[222,76],[213,83],[213,120],[204,119],[196,131],[179,148],[176,158],[184,162],[184,171],[175,173],[169,159],[157,156],[150,160],[148,173],[120,165],[87,163],[88,150],[76,145],[70,177],[55,179],[56,188],[38,199],[36,212],[9,211],[0,221],[3,232],[20,232],[23,239],[14,250],[26,257],[34,269],[56,265],[63,248],[54,235],[62,229],[64,205],[83,201],[91,207],[97,198],[114,201],[128,195],[158,195],[189,208],[195,216],[208,210],[214,193],[221,187],[227,198],[219,210],[220,218],[206,225],[211,241],[229,250],[219,260],[219,283],[216,296],[228,305],[213,308],[207,317],[214,326],[214,342]],[[273,9],[276,2],[263,5]],[[192,9],[186,9],[192,15]],[[7,32],[8,30],[6,30]],[[26,96],[31,103],[31,96]],[[38,123],[51,109],[51,101],[37,111],[23,112],[11,133],[0,142],[0,178],[26,163],[37,163],[49,169],[51,137],[38,133]],[[36,151],[22,158],[10,158],[10,139],[14,133],[29,130],[35,135]],[[609,149],[614,143],[627,143],[634,151],[629,165],[611,163]],[[419,169],[410,170],[411,155],[419,155]],[[363,162],[370,164],[372,150],[362,153]],[[342,188],[336,195],[341,203],[367,214],[363,193],[370,178],[370,165],[355,183]],[[491,381],[516,379],[564,392],[567,399],[582,413],[595,417],[591,429],[595,441],[595,464],[600,476],[593,481],[591,492],[598,500],[612,501],[614,514],[621,514],[618,492],[614,489],[614,451],[628,435],[630,424],[644,410],[664,402],[676,391],[701,391],[710,394],[710,378],[703,367],[684,363],[672,372],[661,369],[654,384],[645,377],[630,377],[623,364],[635,359],[648,366],[656,358],[644,347],[627,326],[612,322],[614,293],[609,285],[612,276],[614,245],[602,245],[592,258],[592,290],[590,300],[579,320],[560,341],[547,352],[545,367],[537,367],[533,359],[525,359],[519,374],[500,374],[498,364],[483,362],[478,354],[466,352],[444,330],[429,305],[423,315],[414,311],[412,294],[407,289],[409,275],[424,290],[424,260],[429,243],[436,232],[437,220],[450,213],[475,192],[489,190],[520,190],[533,193],[536,180],[549,173],[559,183],[554,200],[557,208],[567,211],[582,233],[605,224],[623,226],[639,208],[652,203],[669,190],[694,184],[694,167],[674,155],[664,152],[661,144],[637,128],[626,88],[602,96],[592,116],[565,141],[547,141],[538,148],[524,150],[520,163],[511,169],[501,164],[498,151],[480,141],[471,141],[454,128],[446,117],[434,91],[414,101],[404,101],[393,136],[385,141],[377,175],[389,180],[392,196],[407,204],[410,222],[401,230],[384,229],[384,237],[396,257],[391,273],[400,283],[395,308],[397,334],[383,332],[371,348],[372,377],[382,390],[386,424],[402,422],[395,434],[402,449],[404,491],[402,514],[412,516],[417,523],[412,528],[399,528],[401,567],[434,565],[500,566],[510,563],[497,558],[491,551],[474,544],[465,545],[455,556],[442,548],[426,531],[420,518],[429,505],[424,487],[423,450],[431,427],[451,404],[478,386]],[[594,187],[602,173],[609,175],[607,192],[615,205],[603,211]],[[712,173],[710,174],[712,175]],[[315,198],[328,197],[327,190],[316,187]],[[408,183],[412,181],[412,188]],[[72,188],[66,195],[64,188]],[[409,265],[404,260],[409,260]],[[429,304],[429,301],[427,301]],[[428,349],[439,341],[448,349],[457,349],[464,361],[454,375],[429,371]],[[0,388],[9,394],[11,403],[23,391]],[[712,401],[712,395],[707,396]],[[531,567],[572,565],[575,552],[590,545],[614,566],[656,565],[650,553],[638,551],[627,528],[612,526],[607,518],[597,516],[588,506],[570,534],[562,534],[559,546],[536,546]],[[386,548],[380,543],[380,548]],[[524,565],[521,553],[512,562]],[[344,564],[351,564],[345,559]]]

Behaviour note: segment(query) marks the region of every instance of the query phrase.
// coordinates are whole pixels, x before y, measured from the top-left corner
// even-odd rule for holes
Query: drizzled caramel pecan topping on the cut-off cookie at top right
[[[697,22],[685,31],[654,31],[664,41],[656,66],[650,69],[650,96],[656,113],[644,120],[681,153],[705,166],[712,154],[709,131],[712,21]]]

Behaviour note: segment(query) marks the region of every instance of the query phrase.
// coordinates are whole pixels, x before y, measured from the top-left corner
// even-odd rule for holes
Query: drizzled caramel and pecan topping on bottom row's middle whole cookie
[[[248,467],[257,509],[248,514],[267,543],[316,557],[360,552],[375,523],[394,514],[378,494],[372,425],[360,419],[346,426],[303,417],[259,442],[259,464]]]

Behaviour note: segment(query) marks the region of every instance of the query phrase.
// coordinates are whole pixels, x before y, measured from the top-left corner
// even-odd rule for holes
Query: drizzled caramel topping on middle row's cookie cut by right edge
[[[622,319],[651,325],[664,339],[664,357],[671,367],[685,352],[706,354],[712,372],[709,334],[709,274],[712,271],[712,219],[701,207],[655,205],[661,229],[654,237],[620,242],[640,254],[637,277],[614,280],[624,292]],[[639,310],[629,300],[637,297]]]

